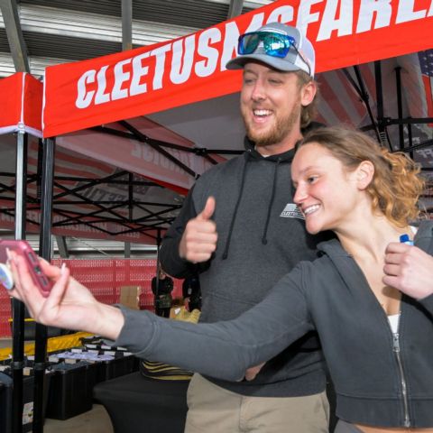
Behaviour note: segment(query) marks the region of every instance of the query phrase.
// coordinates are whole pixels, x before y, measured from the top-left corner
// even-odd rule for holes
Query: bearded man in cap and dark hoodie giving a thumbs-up
[[[200,272],[200,321],[236,318],[296,263],[316,257],[322,239],[307,234],[290,180],[295,144],[311,122],[314,67],[311,43],[281,23],[241,35],[238,56],[226,65],[244,69],[245,152],[197,180],[160,252],[170,275]],[[195,374],[185,431],[327,431],[326,378],[315,334],[245,374],[255,378],[224,382]]]

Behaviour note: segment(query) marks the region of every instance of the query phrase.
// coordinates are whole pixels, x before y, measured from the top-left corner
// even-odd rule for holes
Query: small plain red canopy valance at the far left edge
[[[41,137],[42,83],[17,72],[0,80],[0,134],[25,132]]]

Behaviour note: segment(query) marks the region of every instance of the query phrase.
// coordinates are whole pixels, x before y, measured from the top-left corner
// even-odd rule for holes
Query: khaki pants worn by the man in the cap
[[[327,433],[326,393],[306,397],[247,397],[194,374],[185,433]]]

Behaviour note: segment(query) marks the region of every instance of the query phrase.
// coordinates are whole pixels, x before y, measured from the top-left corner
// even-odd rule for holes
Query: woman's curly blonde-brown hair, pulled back
[[[419,165],[405,153],[390,152],[367,134],[341,126],[313,130],[299,146],[313,142],[325,147],[347,170],[355,170],[362,161],[373,163],[373,180],[366,189],[373,211],[399,227],[419,217],[418,200],[425,180],[419,175]]]

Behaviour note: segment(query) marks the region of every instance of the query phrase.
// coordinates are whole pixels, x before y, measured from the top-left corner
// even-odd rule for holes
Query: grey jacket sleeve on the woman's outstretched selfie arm
[[[295,268],[253,309],[225,322],[193,324],[120,306],[125,322],[114,344],[148,360],[240,380],[248,367],[271,359],[314,328],[300,275]]]

